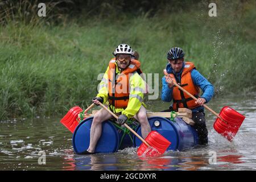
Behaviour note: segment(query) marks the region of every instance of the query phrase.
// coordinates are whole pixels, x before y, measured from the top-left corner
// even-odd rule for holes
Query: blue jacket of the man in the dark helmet
[[[180,80],[181,73],[183,72],[184,65],[185,65],[185,62],[183,63],[183,67],[182,67],[181,71],[179,73],[175,73],[175,71],[171,67],[171,64],[168,63],[167,67],[166,67],[166,71],[167,71],[167,73],[174,73],[177,76],[177,78],[179,78],[179,80]],[[191,71],[191,77],[192,77],[193,83],[196,86],[199,86],[201,90],[203,90],[203,95],[201,96],[201,98],[204,98],[207,102],[209,102],[210,99],[213,97],[213,94],[214,94],[213,85],[210,84],[210,82],[205,77],[203,77],[199,73],[199,71],[197,71],[196,69],[193,69]],[[161,94],[162,100],[165,101],[165,102],[171,102],[172,101],[172,90],[173,90],[173,88],[169,88],[165,77],[162,78],[162,85],[163,85],[162,94]],[[205,102],[205,103],[207,103],[207,102]],[[199,110],[204,110],[204,106],[196,107],[196,108],[192,109],[192,112],[196,112],[196,111],[199,111]]]

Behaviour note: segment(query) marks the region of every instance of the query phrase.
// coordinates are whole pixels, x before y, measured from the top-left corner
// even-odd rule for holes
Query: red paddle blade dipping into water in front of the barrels
[[[171,144],[169,140],[157,131],[151,131],[145,140],[151,147],[147,147],[146,144],[142,143],[137,150],[138,156],[143,154],[146,154],[146,156],[162,155]]]

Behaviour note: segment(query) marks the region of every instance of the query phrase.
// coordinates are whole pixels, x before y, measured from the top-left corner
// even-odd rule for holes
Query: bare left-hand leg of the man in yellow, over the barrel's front
[[[112,115],[103,108],[94,114],[92,126],[90,127],[90,145],[87,149],[88,152],[95,151],[98,139],[101,137],[102,122],[110,118],[112,118]]]

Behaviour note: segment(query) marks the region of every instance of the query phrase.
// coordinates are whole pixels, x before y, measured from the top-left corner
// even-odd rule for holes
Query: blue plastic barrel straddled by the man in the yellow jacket
[[[93,117],[82,121],[73,133],[73,148],[76,153],[85,151],[90,143],[90,127],[92,125]],[[106,121],[102,123],[102,134],[98,140],[95,152],[109,153],[116,152],[122,137],[122,131],[113,125],[112,122]]]

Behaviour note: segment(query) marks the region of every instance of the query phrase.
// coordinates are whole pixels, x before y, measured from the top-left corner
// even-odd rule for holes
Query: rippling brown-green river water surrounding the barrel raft
[[[169,105],[162,101],[148,104],[151,111]],[[138,158],[134,147],[113,154],[73,154],[72,133],[61,125],[61,117],[1,121],[0,170],[255,170],[256,93],[214,98],[208,106],[219,112],[226,105],[246,116],[233,142],[213,129],[216,117],[206,110],[208,146],[147,158]]]

